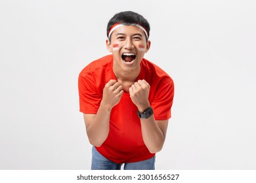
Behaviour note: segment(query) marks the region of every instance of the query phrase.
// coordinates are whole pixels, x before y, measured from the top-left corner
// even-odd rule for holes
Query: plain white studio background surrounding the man
[[[106,25],[151,25],[145,58],[175,81],[156,169],[256,169],[255,1],[0,1],[0,169],[90,169],[77,76]]]

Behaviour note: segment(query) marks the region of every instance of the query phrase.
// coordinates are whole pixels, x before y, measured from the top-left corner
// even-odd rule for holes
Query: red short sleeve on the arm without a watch
[[[96,114],[100,106],[102,96],[95,88],[95,80],[90,73],[87,75],[79,75],[79,107],[80,112],[85,114]]]

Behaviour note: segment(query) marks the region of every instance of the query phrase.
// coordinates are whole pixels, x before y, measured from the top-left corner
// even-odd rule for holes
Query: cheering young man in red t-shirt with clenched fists
[[[111,55],[79,74],[79,103],[93,144],[91,169],[154,169],[173,103],[173,80],[144,59],[150,25],[140,14],[119,12],[107,27]]]

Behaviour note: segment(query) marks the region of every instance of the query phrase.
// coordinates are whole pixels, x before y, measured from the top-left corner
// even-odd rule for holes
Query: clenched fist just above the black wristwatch
[[[144,110],[150,107],[148,101],[149,91],[150,85],[146,80],[138,80],[138,82],[135,82],[135,84],[129,88],[131,100],[138,107],[140,112],[144,112]]]

